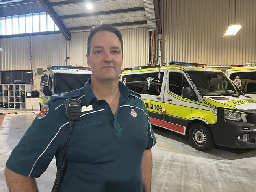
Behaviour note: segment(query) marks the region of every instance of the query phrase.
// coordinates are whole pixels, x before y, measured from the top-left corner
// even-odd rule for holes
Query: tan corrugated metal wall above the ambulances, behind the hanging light
[[[222,66],[256,61],[256,0],[161,2],[163,63],[200,63],[201,59],[210,66]],[[235,22],[241,30],[234,37],[223,37]]]

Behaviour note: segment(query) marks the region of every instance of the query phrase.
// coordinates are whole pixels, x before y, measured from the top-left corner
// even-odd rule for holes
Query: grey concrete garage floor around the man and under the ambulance
[[[35,118],[31,111],[17,112],[6,115],[0,128],[0,192],[8,191],[5,162]],[[158,143],[152,149],[152,192],[256,191],[256,148],[238,150],[217,146],[201,152],[189,146],[182,135],[158,127],[154,127],[154,132]],[[40,192],[52,189],[55,174],[53,160],[37,179]]]

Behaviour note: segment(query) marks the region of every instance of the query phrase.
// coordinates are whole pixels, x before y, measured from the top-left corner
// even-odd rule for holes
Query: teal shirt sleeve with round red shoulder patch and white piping
[[[58,148],[63,147],[61,130],[64,127],[68,129],[63,122],[55,112],[54,105],[48,102],[13,149],[6,167],[20,175],[40,177]]]

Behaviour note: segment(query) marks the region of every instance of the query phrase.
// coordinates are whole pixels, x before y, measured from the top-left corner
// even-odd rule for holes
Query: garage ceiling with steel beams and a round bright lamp
[[[87,9],[86,3],[93,9]],[[45,10],[67,40],[70,32],[88,31],[99,23],[161,33],[160,0],[0,0],[0,17]]]

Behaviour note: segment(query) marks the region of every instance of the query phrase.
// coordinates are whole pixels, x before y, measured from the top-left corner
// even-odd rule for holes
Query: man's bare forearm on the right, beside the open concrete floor
[[[151,149],[145,150],[143,153],[141,170],[142,170],[143,192],[151,192],[151,176],[152,176]]]

